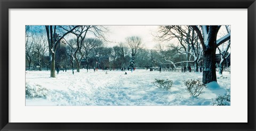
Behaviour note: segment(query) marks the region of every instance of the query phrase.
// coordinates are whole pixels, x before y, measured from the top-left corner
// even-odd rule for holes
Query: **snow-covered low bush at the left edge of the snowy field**
[[[31,84],[26,82],[26,98],[45,98],[49,92],[38,84]]]

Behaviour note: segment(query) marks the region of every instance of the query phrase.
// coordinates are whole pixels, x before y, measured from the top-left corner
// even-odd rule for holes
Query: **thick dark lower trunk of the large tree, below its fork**
[[[207,84],[212,81],[217,82],[216,68],[215,68],[215,52],[216,48],[208,48],[204,51],[204,70],[203,83]]]

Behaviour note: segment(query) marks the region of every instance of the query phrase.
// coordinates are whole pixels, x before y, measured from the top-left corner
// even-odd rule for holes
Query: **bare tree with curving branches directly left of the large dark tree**
[[[202,47],[198,42],[198,36],[194,29],[187,25],[162,25],[158,30],[158,40],[170,41],[172,39],[179,40],[179,46],[175,49],[180,54],[186,54],[187,67],[193,61],[195,72],[198,72],[198,63],[202,57]],[[169,55],[170,56],[170,55]],[[193,58],[194,60],[191,60]],[[183,61],[182,63],[185,63]]]

